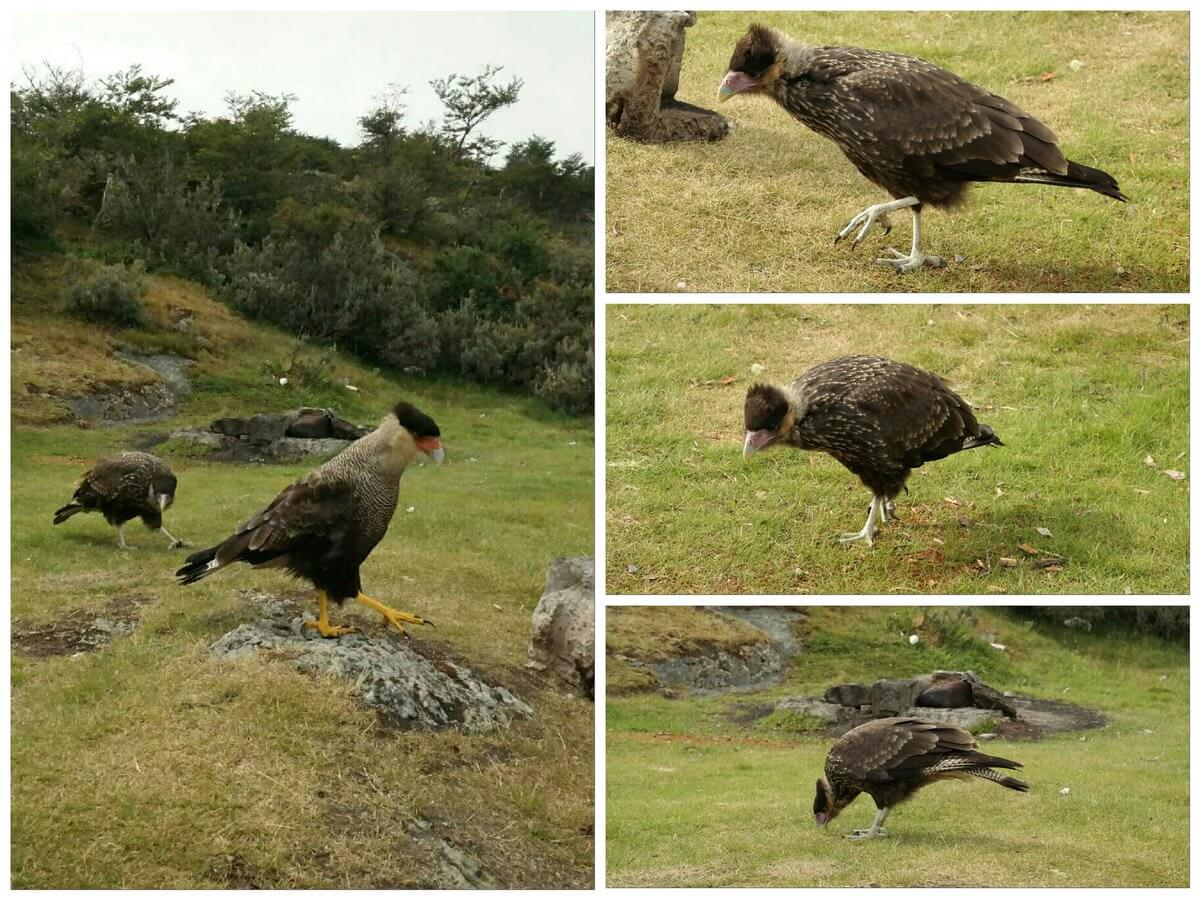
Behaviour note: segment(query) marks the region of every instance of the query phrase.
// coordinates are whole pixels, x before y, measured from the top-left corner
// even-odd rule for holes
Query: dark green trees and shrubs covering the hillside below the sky
[[[386,370],[590,414],[594,169],[484,133],[520,79],[437,79],[424,124],[388,85],[355,146],[298,131],[295,95],[230,92],[205,116],[172,84],[43,65],[11,88],[13,250],[74,258],[74,314],[136,324],[142,274],[166,272]]]

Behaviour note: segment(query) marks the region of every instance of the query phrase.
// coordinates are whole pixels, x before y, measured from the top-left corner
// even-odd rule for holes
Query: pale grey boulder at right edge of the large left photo
[[[559,557],[533,612],[529,661],[595,697],[595,559]]]

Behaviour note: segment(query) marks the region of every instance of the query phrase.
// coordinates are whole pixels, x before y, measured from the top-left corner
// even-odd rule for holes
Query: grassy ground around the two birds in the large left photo
[[[55,317],[53,296],[25,276],[14,304],[14,414],[53,421],[61,406],[50,389],[88,386],[88,373],[127,336],[96,331],[73,344],[79,328]],[[420,816],[506,886],[589,887],[592,706],[526,674],[523,662],[550,559],[590,553],[590,422],[478,388],[392,380],[347,358],[335,360],[335,380],[283,392],[266,370],[288,355],[288,338],[248,328],[192,286],[149,284],[156,317],[191,305],[214,347],[196,349],[199,391],[179,415],[142,428],[13,430],[18,625],[149,600],[136,632],[102,652],[13,655],[14,884],[433,887],[438,860],[403,828]],[[62,359],[68,350],[77,355]],[[54,372],[68,382],[56,384]],[[360,391],[337,386],[342,377]],[[446,461],[406,475],[396,521],[364,580],[376,596],[437,622],[415,640],[532,702],[535,718],[508,731],[384,732],[344,683],[263,659],[211,661],[209,646],[256,614],[239,590],[287,592],[293,582],[240,569],[179,588],[172,572],[184,553],[137,523],[127,529],[130,553],[116,551],[115,530],[98,516],[50,524],[88,464],[137,433],[306,402],[373,421],[397,397],[437,418]],[[224,536],[307,468],[167,458],[180,476],[167,527],[197,546]],[[379,628],[361,607],[341,616]]]

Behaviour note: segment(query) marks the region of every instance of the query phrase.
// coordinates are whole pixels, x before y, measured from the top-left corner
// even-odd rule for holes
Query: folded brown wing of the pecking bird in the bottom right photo
[[[944,754],[970,752],[970,732],[920,719],[875,719],[846,732],[829,751],[827,766],[860,781],[888,781],[898,774],[936,764]]]

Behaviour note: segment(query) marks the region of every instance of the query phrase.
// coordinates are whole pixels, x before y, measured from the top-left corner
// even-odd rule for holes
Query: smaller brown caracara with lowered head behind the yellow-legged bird
[[[163,510],[175,502],[176,484],[174,473],[157,456],[137,450],[118,454],[88,470],[71,503],[54,514],[54,524],[62,524],[77,512],[101,512],[116,526],[118,546],[130,550],[125,523],[140,516],[146,528],[163,533],[169,547],[186,547],[162,524]]]

